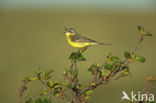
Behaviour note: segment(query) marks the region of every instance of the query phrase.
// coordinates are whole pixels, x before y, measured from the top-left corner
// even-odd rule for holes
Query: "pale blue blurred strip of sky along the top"
[[[21,7],[156,10],[156,0],[0,0],[0,8]]]

